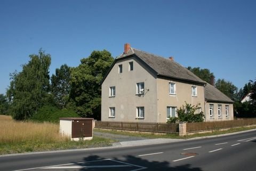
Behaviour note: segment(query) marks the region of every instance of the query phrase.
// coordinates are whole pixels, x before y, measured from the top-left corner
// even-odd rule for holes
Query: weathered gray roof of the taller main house
[[[150,54],[148,52],[143,52],[135,48],[130,48],[130,50],[126,54],[118,56],[117,59],[121,59],[125,56],[130,56],[132,54],[138,56],[139,59],[141,59],[151,69],[157,72],[157,75],[159,76],[187,80],[190,82],[196,82],[201,84],[206,83],[195,74],[193,74],[191,71],[189,71],[187,68],[182,67],[179,63],[173,60],[163,58],[162,56],[158,56],[155,54]]]

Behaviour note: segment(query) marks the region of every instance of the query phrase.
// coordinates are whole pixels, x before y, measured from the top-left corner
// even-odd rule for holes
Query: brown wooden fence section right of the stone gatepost
[[[213,121],[203,123],[187,123],[187,133],[211,131],[216,129],[256,125],[256,119]]]

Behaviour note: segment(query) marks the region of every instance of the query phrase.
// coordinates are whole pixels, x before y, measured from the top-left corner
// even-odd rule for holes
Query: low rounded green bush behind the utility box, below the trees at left
[[[36,114],[31,117],[31,120],[44,122],[49,121],[52,123],[58,123],[59,118],[66,118],[66,117],[79,117],[76,112],[68,109],[59,109],[57,107],[53,107],[51,105],[44,105],[40,108]]]

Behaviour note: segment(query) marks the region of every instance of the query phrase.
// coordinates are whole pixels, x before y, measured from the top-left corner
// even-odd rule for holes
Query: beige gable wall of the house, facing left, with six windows
[[[129,71],[129,62],[133,61],[133,71]],[[123,72],[118,73],[118,65]],[[142,67],[135,57],[116,61],[114,67],[102,83],[101,120],[102,121],[157,121],[156,76]],[[145,83],[145,94],[136,95],[136,83]],[[109,87],[115,86],[115,97],[109,97]],[[149,89],[148,91],[146,89]],[[115,118],[109,117],[109,108],[115,107]],[[145,107],[145,118],[137,119],[137,108]]]

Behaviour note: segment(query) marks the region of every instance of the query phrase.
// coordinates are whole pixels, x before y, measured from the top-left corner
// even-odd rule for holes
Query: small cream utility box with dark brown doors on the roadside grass
[[[71,140],[92,140],[93,118],[60,118],[60,134]]]

